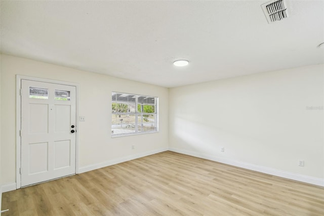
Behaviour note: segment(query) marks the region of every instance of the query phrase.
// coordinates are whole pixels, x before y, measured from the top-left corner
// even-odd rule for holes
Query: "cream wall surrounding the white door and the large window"
[[[117,79],[63,66],[2,55],[1,58],[1,176],[16,182],[16,75],[79,84],[79,166],[87,169],[168,148],[168,89]],[[136,76],[136,74],[134,74]],[[159,97],[159,132],[111,138],[111,92]],[[132,150],[131,146],[135,145]]]

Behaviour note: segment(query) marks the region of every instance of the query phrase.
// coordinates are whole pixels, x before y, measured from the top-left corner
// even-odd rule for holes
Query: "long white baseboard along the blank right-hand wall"
[[[220,163],[224,163],[224,164],[229,164],[232,166],[246,168],[246,169],[250,169],[250,170],[254,170],[254,171],[258,171],[258,172],[267,173],[270,175],[289,178],[289,179],[296,180],[299,182],[304,182],[304,183],[309,183],[312,185],[318,185],[318,186],[324,187],[324,179],[321,179],[321,178],[315,178],[315,177],[311,177],[311,176],[307,176],[307,175],[300,175],[300,174],[296,174],[296,173],[281,171],[281,170],[272,169],[272,168],[268,168],[268,167],[239,162],[239,161],[235,161],[235,160],[231,160],[231,159],[220,158],[220,157],[216,157],[216,156],[208,155],[208,154],[204,154],[204,153],[199,153],[199,152],[192,152],[192,151],[187,151],[187,150],[182,150],[182,149],[177,149],[177,148],[169,148],[169,150],[172,152],[177,152],[177,153],[181,153],[181,154],[185,154],[185,155],[191,155],[191,156],[198,157],[198,158],[204,158],[204,159],[208,159],[208,160],[212,160],[212,161],[216,161],[216,162],[220,162]]]

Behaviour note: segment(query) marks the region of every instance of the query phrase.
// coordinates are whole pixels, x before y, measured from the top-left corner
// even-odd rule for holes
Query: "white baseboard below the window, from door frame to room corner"
[[[104,162],[101,162],[101,163],[96,163],[96,164],[92,164],[92,165],[88,165],[88,166],[83,166],[83,167],[80,167],[78,169],[77,173],[88,172],[88,171],[91,171],[91,170],[94,170],[94,169],[99,169],[99,168],[102,168],[102,167],[111,166],[111,165],[114,165],[114,164],[117,164],[117,163],[123,163],[125,161],[130,161],[130,160],[134,160],[134,159],[137,159],[137,158],[142,158],[142,157],[145,157],[145,156],[148,156],[148,155],[153,155],[153,154],[160,153],[160,152],[165,152],[165,151],[168,151],[168,150],[169,150],[169,148],[161,148],[161,149],[157,149],[157,150],[153,150],[153,151],[149,151],[149,152],[143,152],[143,153],[139,153],[139,154],[130,155],[130,156],[123,157],[123,158],[116,158],[116,159],[112,159],[112,160],[109,160],[109,161],[104,161]]]

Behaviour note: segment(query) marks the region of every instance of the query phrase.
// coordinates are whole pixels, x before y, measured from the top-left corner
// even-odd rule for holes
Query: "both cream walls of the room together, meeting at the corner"
[[[78,122],[79,166],[84,171],[170,148],[321,184],[324,111],[307,106],[323,105],[323,73],[324,65],[312,65],[168,90],[2,55],[0,183],[16,181],[18,74],[79,84],[79,115],[86,117]],[[159,132],[111,138],[111,91],[158,96]],[[305,166],[298,166],[298,160]]]

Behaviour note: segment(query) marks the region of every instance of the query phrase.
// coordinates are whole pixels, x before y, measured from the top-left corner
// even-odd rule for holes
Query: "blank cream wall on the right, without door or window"
[[[307,106],[322,109],[323,73],[312,65],[172,88],[169,148],[322,184],[324,111]]]

